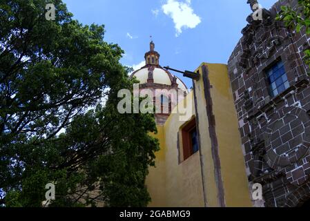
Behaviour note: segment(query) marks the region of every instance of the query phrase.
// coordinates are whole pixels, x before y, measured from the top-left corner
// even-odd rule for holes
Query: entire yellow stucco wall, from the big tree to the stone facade
[[[224,201],[226,206],[251,206],[237,114],[233,105],[227,67],[223,64],[205,65],[209,68],[209,79],[212,85],[211,97],[219,145]],[[201,67],[197,68],[200,70],[200,75],[202,75]],[[197,152],[184,162],[179,162],[178,155],[182,155],[182,137],[179,133],[180,151],[178,151],[178,132],[186,121],[196,115],[192,90],[176,107],[184,106],[184,102],[186,106],[191,104],[188,106],[191,110],[190,114],[181,117],[180,112],[172,113],[164,126],[157,126],[158,133],[155,137],[159,139],[161,149],[156,153],[156,168],[151,168],[146,178],[146,185],[152,198],[148,206],[204,206],[205,199],[206,206],[220,205],[202,78],[195,82],[195,92],[196,117],[199,119],[201,142],[200,153]],[[203,185],[205,191],[203,191]]]

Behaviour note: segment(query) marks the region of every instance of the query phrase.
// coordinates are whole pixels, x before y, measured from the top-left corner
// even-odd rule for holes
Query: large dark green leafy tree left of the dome
[[[117,92],[135,82],[104,32],[73,20],[61,0],[0,0],[0,204],[41,206],[50,182],[50,206],[151,200],[154,116],[118,113]]]

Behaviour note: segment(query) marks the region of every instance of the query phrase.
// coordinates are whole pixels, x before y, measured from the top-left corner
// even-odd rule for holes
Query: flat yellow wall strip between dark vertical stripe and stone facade
[[[238,118],[233,104],[227,66],[205,63],[202,65],[208,66],[209,80],[212,86],[210,90],[213,115],[215,115],[215,130],[219,146],[225,204],[226,206],[251,206],[238,131]],[[202,73],[201,67],[200,73]],[[199,83],[203,84],[203,82]],[[210,189],[209,186],[207,186],[207,192],[208,189]]]

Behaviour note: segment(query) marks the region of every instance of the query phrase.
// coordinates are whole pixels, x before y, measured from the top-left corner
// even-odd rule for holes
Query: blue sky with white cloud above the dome
[[[203,61],[226,64],[251,10],[246,0],[63,0],[83,24],[104,24],[105,41],[125,51],[122,64],[144,61],[150,36],[159,64],[195,70]],[[260,0],[270,8],[276,0]],[[175,74],[175,73],[174,73]],[[184,79],[188,88],[191,80]]]

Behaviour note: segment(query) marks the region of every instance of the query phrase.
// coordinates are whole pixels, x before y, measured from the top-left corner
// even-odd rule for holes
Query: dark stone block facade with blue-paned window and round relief
[[[249,15],[228,64],[249,184],[262,184],[262,206],[271,207],[310,199],[310,36],[275,19],[287,4],[298,0],[278,1],[260,20]]]

